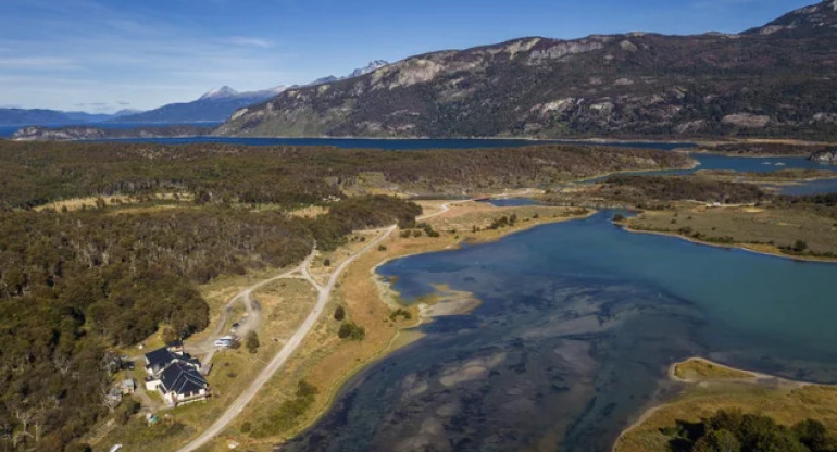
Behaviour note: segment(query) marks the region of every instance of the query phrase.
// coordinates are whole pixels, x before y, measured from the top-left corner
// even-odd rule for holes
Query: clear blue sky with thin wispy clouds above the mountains
[[[740,32],[815,0],[0,0],[0,106],[114,111],[522,36]]]

